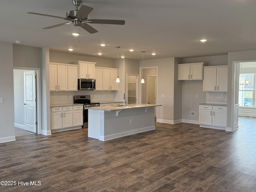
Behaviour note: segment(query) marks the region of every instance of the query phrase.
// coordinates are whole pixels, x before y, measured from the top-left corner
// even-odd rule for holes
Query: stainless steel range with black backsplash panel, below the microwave
[[[91,102],[90,95],[76,95],[76,96],[74,96],[74,103],[84,104],[84,126],[83,126],[83,128],[88,127],[88,109],[85,109],[85,108],[100,106],[100,103]]]

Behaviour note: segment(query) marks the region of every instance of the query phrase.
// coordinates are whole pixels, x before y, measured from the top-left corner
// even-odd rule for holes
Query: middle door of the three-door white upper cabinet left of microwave
[[[58,91],[68,90],[68,66],[58,65]]]

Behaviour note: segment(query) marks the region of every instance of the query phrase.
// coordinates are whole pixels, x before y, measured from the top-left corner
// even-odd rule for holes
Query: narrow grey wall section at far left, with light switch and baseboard
[[[12,43],[0,42],[0,143],[14,141]]]

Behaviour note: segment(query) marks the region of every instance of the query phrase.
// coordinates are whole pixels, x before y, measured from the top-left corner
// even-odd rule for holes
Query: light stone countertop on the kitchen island
[[[129,104],[127,106],[97,106],[97,107],[88,107],[87,109],[104,110],[104,111],[116,111],[116,110],[147,108],[147,107],[156,107],[156,106],[162,106],[162,105],[156,105],[156,104]]]

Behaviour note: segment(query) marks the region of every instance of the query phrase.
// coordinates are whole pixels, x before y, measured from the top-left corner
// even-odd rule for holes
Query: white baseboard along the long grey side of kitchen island
[[[116,138],[120,138],[120,137],[124,137],[124,136],[128,136],[128,135],[133,135],[133,134],[137,134],[137,133],[151,131],[151,130],[155,130],[155,129],[156,129],[155,126],[144,127],[144,128],[140,128],[140,129],[135,129],[135,130],[130,130],[130,131],[117,133],[117,134],[111,134],[111,135],[107,135],[107,136],[100,136],[99,140],[100,141],[107,141],[107,140],[116,139]]]

